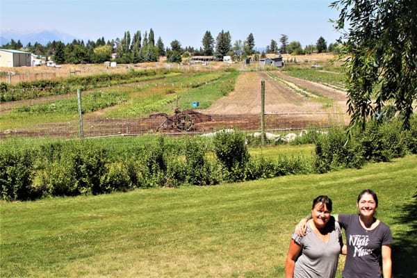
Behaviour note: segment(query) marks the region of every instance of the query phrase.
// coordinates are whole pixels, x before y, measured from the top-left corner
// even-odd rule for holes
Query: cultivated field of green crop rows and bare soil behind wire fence
[[[174,66],[152,64],[134,70],[156,67]],[[220,129],[255,132],[261,131],[262,121],[264,131],[286,133],[345,126],[350,120],[345,113],[346,95],[334,86],[294,79],[258,65],[243,67],[233,79],[226,70],[218,72],[211,65],[176,67],[176,71],[165,70],[165,75],[144,75],[140,81],[124,84],[2,91],[0,140],[198,135]],[[54,72],[60,70],[63,73],[63,69]],[[116,70],[128,72],[131,66]],[[88,72],[88,68],[81,70],[81,74]]]

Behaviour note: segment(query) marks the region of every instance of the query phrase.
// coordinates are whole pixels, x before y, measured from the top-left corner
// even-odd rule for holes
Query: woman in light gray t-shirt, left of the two
[[[313,200],[312,219],[304,236],[293,234],[285,265],[286,278],[334,278],[338,255],[343,245],[341,228],[332,212],[332,200],[318,196]]]

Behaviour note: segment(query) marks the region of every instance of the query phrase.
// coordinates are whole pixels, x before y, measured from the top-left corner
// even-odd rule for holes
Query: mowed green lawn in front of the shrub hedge
[[[329,174],[2,202],[1,277],[284,277],[312,199],[355,213],[364,188],[393,231],[395,277],[415,277],[416,180],[414,155]],[[336,277],[342,268],[343,257]]]

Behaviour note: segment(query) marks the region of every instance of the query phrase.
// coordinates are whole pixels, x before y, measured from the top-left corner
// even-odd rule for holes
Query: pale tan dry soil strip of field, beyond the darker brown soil
[[[236,81],[235,90],[227,97],[218,99],[203,113],[208,114],[259,114],[261,113],[261,81],[265,81],[265,113],[320,113],[346,111],[345,92],[320,83],[296,79],[281,72],[272,72],[277,79],[265,72],[243,72]],[[279,81],[284,80],[286,83]],[[305,88],[333,101],[332,108],[306,97],[295,90]]]

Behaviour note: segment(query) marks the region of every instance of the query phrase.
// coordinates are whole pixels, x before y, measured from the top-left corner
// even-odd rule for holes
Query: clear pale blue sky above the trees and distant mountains
[[[322,36],[327,44],[338,33],[329,19],[338,11],[333,0],[0,0],[0,33],[59,31],[82,40],[123,38],[124,32],[149,29],[165,47],[178,40],[183,47],[202,47],[210,31],[215,39],[229,31],[232,43],[252,33],[256,48],[281,34],[305,47]]]

